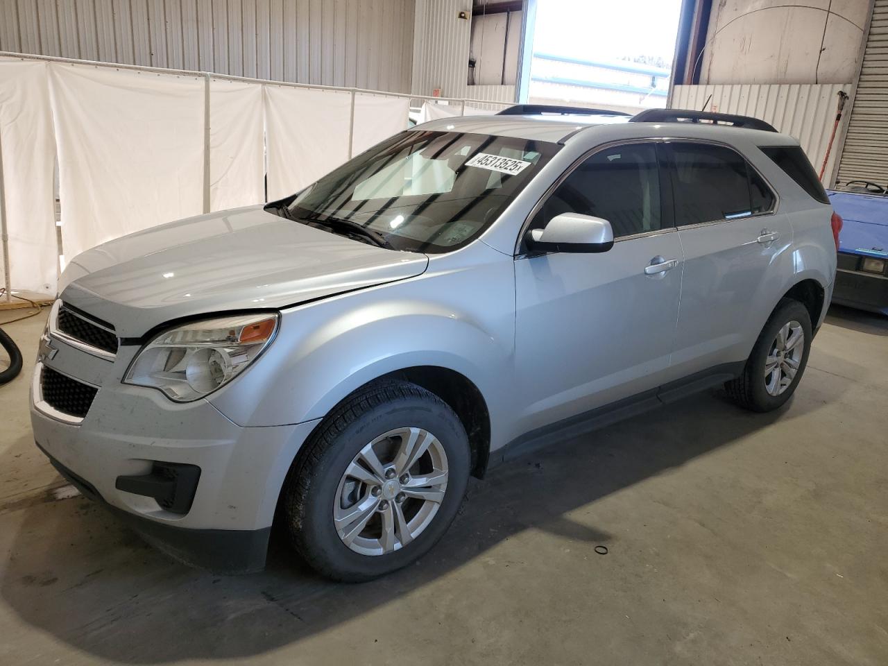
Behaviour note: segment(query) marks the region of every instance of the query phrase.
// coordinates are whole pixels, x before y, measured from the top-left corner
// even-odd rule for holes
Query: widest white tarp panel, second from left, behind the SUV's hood
[[[50,83],[68,260],[202,212],[203,77],[52,63]]]

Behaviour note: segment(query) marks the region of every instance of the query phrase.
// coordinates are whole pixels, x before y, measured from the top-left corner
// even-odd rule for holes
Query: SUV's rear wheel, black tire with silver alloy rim
[[[725,383],[728,397],[752,411],[780,408],[805,372],[812,338],[808,309],[783,298],[759,334],[741,376]]]

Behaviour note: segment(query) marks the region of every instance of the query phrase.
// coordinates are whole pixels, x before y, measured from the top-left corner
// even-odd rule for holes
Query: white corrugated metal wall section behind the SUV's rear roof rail
[[[808,155],[814,169],[819,172],[827,152],[829,134],[836,120],[838,91],[850,90],[851,83],[677,85],[672,92],[669,107],[703,110],[706,105],[706,111],[761,118],[779,131],[798,139],[805,155]],[[824,182],[829,182],[829,174],[836,163],[836,153],[834,146],[829,155]]]

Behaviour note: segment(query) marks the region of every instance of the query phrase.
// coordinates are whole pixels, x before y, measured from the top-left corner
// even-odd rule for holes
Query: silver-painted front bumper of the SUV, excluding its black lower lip
[[[52,369],[100,388],[79,425],[36,411],[32,388],[34,438],[89,480],[108,503],[178,527],[257,529],[272,524],[283,477],[316,422],[242,428],[206,400],[181,404],[159,391],[123,385],[138,346],[122,346],[115,361],[108,362],[56,339],[52,345],[58,350],[46,361]],[[154,460],[201,467],[194,504],[186,515],[163,511],[152,499],[115,488],[118,476],[150,472]]]

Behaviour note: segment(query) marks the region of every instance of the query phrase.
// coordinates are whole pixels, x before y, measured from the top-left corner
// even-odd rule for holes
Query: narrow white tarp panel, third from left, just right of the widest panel
[[[210,79],[210,210],[265,201],[262,84]]]

